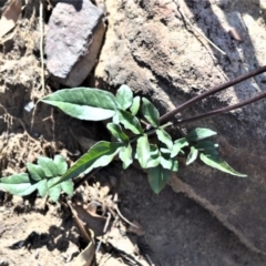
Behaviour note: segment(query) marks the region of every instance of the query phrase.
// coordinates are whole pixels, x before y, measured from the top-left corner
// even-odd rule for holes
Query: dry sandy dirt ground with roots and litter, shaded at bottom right
[[[6,3],[0,2],[0,16]],[[50,13],[44,4],[45,23]],[[17,27],[1,39],[0,73],[1,176],[23,172],[39,154],[60,153],[72,163],[84,150],[76,140],[108,139],[101,124],[75,121],[40,103],[27,110],[60,88],[47,71],[41,86],[39,1],[27,1]],[[108,215],[112,217],[94,265],[266,265],[265,256],[249,250],[195,202],[170,187],[154,195],[144,173],[133,167],[124,172],[119,162],[80,186],[74,201],[100,203],[92,221],[99,234]],[[137,231],[116,206],[139,223]],[[74,258],[88,242],[72,216],[66,198],[55,204],[0,192],[0,265],[83,265]]]

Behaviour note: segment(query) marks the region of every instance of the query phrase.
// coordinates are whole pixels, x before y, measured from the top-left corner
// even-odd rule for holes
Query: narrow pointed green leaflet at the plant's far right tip
[[[224,160],[222,160],[218,156],[205,155],[205,154],[201,153],[200,157],[208,166],[217,168],[217,170],[219,170],[222,172],[225,172],[227,174],[236,175],[236,176],[239,176],[239,177],[246,177],[247,176],[245,174],[241,174],[241,173],[236,172],[235,170],[233,170]]]

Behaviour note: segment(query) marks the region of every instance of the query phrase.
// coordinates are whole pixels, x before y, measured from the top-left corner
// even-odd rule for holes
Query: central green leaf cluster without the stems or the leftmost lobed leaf
[[[106,166],[116,155],[123,162],[123,168],[137,160],[141,167],[147,171],[149,183],[155,193],[165,186],[171,172],[177,172],[180,155],[186,156],[186,165],[200,156],[203,163],[212,167],[232,175],[246,176],[226,164],[218,156],[217,144],[206,140],[216,132],[195,129],[186,136],[173,141],[165,131],[172,123],[161,125],[156,108],[145,98],[134,98],[126,85],[117,90],[116,96],[98,89],[76,88],[58,91],[41,101],[75,119],[112,119],[106,127],[115,141],[101,141],[93,145],[58,183]],[[150,139],[151,135],[155,137]]]

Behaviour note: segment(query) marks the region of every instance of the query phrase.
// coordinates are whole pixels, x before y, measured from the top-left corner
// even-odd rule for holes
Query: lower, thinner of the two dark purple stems
[[[200,114],[200,115],[193,116],[191,119],[178,120],[177,121],[177,125],[195,122],[197,120],[206,119],[206,117],[209,117],[209,116],[213,116],[213,115],[217,115],[217,114],[222,114],[222,113],[227,113],[227,112],[229,112],[232,110],[243,108],[243,106],[245,106],[247,104],[250,104],[253,102],[259,101],[259,100],[262,100],[264,98],[266,98],[266,92],[260,93],[257,96],[254,96],[252,99],[248,99],[248,100],[246,100],[244,102],[241,102],[241,103],[237,103],[237,104],[234,104],[234,105],[231,105],[231,106],[226,106],[226,108],[222,108],[222,109],[218,109],[218,110],[214,110],[214,111],[211,111],[211,112],[207,112],[207,113],[204,113],[204,114]]]

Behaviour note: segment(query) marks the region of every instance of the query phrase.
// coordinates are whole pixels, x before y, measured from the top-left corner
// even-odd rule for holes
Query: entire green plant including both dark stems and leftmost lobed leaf
[[[132,91],[126,85],[119,89],[116,96],[106,91],[89,88],[61,90],[52,93],[41,101],[61,109],[75,119],[102,121],[112,117],[112,122],[106,126],[116,141],[96,143],[68,171],[66,163],[62,157],[58,157],[59,155],[54,157],[54,161],[39,157],[39,165],[27,165],[30,176],[21,173],[2,177],[0,178],[0,188],[21,196],[38,190],[41,196],[49,194],[53,201],[57,201],[61,191],[70,195],[73,193],[73,183],[70,180],[81,173],[90,173],[94,168],[106,166],[116,155],[123,162],[124,168],[129,167],[133,160],[137,160],[140,165],[147,170],[149,182],[155,193],[160,193],[165,186],[170,173],[178,170],[180,156],[186,156],[186,165],[200,157],[208,166],[245,177],[246,175],[234,171],[218,156],[217,144],[206,140],[216,132],[209,129],[195,129],[187,135],[173,141],[165,129],[171,125],[168,121],[175,114],[196,102],[265,71],[266,65],[215,86],[161,117],[156,108],[147,99],[133,98]],[[231,106],[178,120],[176,124],[181,125],[226,113],[265,96],[266,92]],[[155,135],[156,140],[150,139],[151,135]]]

